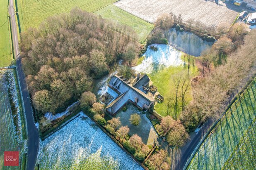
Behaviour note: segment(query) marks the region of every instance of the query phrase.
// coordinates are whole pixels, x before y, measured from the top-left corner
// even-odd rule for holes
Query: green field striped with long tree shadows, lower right
[[[253,81],[201,144],[188,170],[255,167],[255,89]]]

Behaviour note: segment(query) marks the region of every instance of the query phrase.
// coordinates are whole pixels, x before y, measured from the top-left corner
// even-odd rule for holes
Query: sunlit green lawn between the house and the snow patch
[[[155,110],[162,116],[167,116],[167,108],[169,99],[174,97],[175,89],[174,89],[174,76],[178,73],[188,73],[188,66],[169,66],[168,68],[164,68],[157,73],[150,74],[150,79],[155,86],[157,86],[157,91],[164,97],[164,102],[155,105]],[[195,66],[190,67],[189,76],[193,78],[194,76],[198,75],[198,68]],[[187,103],[189,103],[193,99],[191,88],[188,91],[188,94],[185,97]],[[171,103],[171,102],[170,102]],[[181,106],[181,105],[180,105]],[[181,112],[181,109],[179,113]],[[174,117],[173,108],[171,108],[171,104],[169,104],[169,115]],[[179,117],[179,115],[177,115]]]

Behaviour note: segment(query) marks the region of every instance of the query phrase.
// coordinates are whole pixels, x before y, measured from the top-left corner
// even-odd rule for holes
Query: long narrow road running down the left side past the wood
[[[17,26],[15,20],[15,12],[13,8],[13,0],[9,0],[9,14],[11,16],[11,27],[12,27],[12,43],[14,47],[14,56],[16,57],[16,66],[18,72],[18,78],[22,90],[22,99],[24,102],[24,110],[27,119],[28,129],[28,153],[27,153],[27,170],[34,170],[36,163],[36,156],[39,149],[39,132],[34,124],[33,111],[31,108],[29,92],[27,90],[27,83],[24,72],[22,70],[21,58],[19,57],[19,41],[17,34]]]

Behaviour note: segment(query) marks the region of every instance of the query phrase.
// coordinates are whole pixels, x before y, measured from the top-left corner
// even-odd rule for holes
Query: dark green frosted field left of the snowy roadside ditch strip
[[[4,169],[4,151],[15,151],[18,148],[12,110],[8,96],[7,81],[0,71],[0,169]],[[19,168],[10,168],[19,169]]]

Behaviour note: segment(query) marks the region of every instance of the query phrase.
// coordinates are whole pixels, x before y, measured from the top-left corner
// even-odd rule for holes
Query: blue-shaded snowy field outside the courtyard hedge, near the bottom
[[[121,170],[142,170],[97,125],[80,112],[79,117],[40,142],[37,164],[40,169],[70,169],[92,153],[118,161]]]

